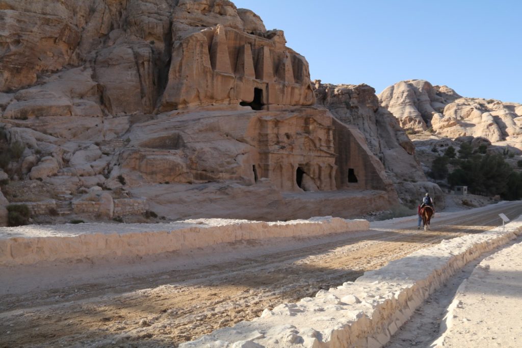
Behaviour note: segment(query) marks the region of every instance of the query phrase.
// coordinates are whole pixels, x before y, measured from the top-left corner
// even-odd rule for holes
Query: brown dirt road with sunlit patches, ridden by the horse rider
[[[514,218],[522,207],[509,203],[480,214],[436,218],[433,230],[420,233],[410,222],[400,229],[294,239],[286,249],[230,246],[228,252],[235,252],[236,259],[229,255],[218,262],[216,257],[212,264],[194,269],[167,260],[160,272],[105,279],[97,273],[96,284],[78,281],[2,296],[0,346],[175,346],[257,317],[265,308],[355,280],[364,271],[442,239],[490,229],[498,225],[500,212]],[[185,263],[192,262],[184,257]],[[68,272],[80,268],[69,265]],[[38,283],[39,277],[44,279],[34,273],[31,281]]]

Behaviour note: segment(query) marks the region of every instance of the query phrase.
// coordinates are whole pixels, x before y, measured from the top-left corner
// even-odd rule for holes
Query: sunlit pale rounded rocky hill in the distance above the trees
[[[522,150],[522,105],[494,99],[461,97],[446,86],[407,80],[387,87],[379,103],[411,132],[487,138],[493,145]]]

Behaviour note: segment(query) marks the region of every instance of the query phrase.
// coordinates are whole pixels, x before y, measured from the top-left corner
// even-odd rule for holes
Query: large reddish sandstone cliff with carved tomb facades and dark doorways
[[[283,32],[230,1],[3,0],[0,28],[10,201],[280,219],[397,199],[374,144],[315,106]]]

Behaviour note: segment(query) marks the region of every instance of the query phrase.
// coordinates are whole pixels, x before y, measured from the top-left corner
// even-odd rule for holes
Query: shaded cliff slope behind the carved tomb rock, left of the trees
[[[383,163],[387,176],[403,203],[415,205],[430,192],[437,207],[444,207],[444,196],[437,184],[426,179],[416,160],[415,147],[399,122],[379,106],[375,89],[367,85],[330,85],[315,81],[317,103],[327,107],[340,122],[357,128],[372,153]]]

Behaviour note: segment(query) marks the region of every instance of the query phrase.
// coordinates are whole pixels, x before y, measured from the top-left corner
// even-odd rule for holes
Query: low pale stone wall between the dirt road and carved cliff
[[[309,237],[369,228],[366,220],[331,216],[272,223],[196,219],[168,224],[5,227],[0,228],[0,265],[145,256],[240,240]],[[11,238],[5,237],[7,233]]]

